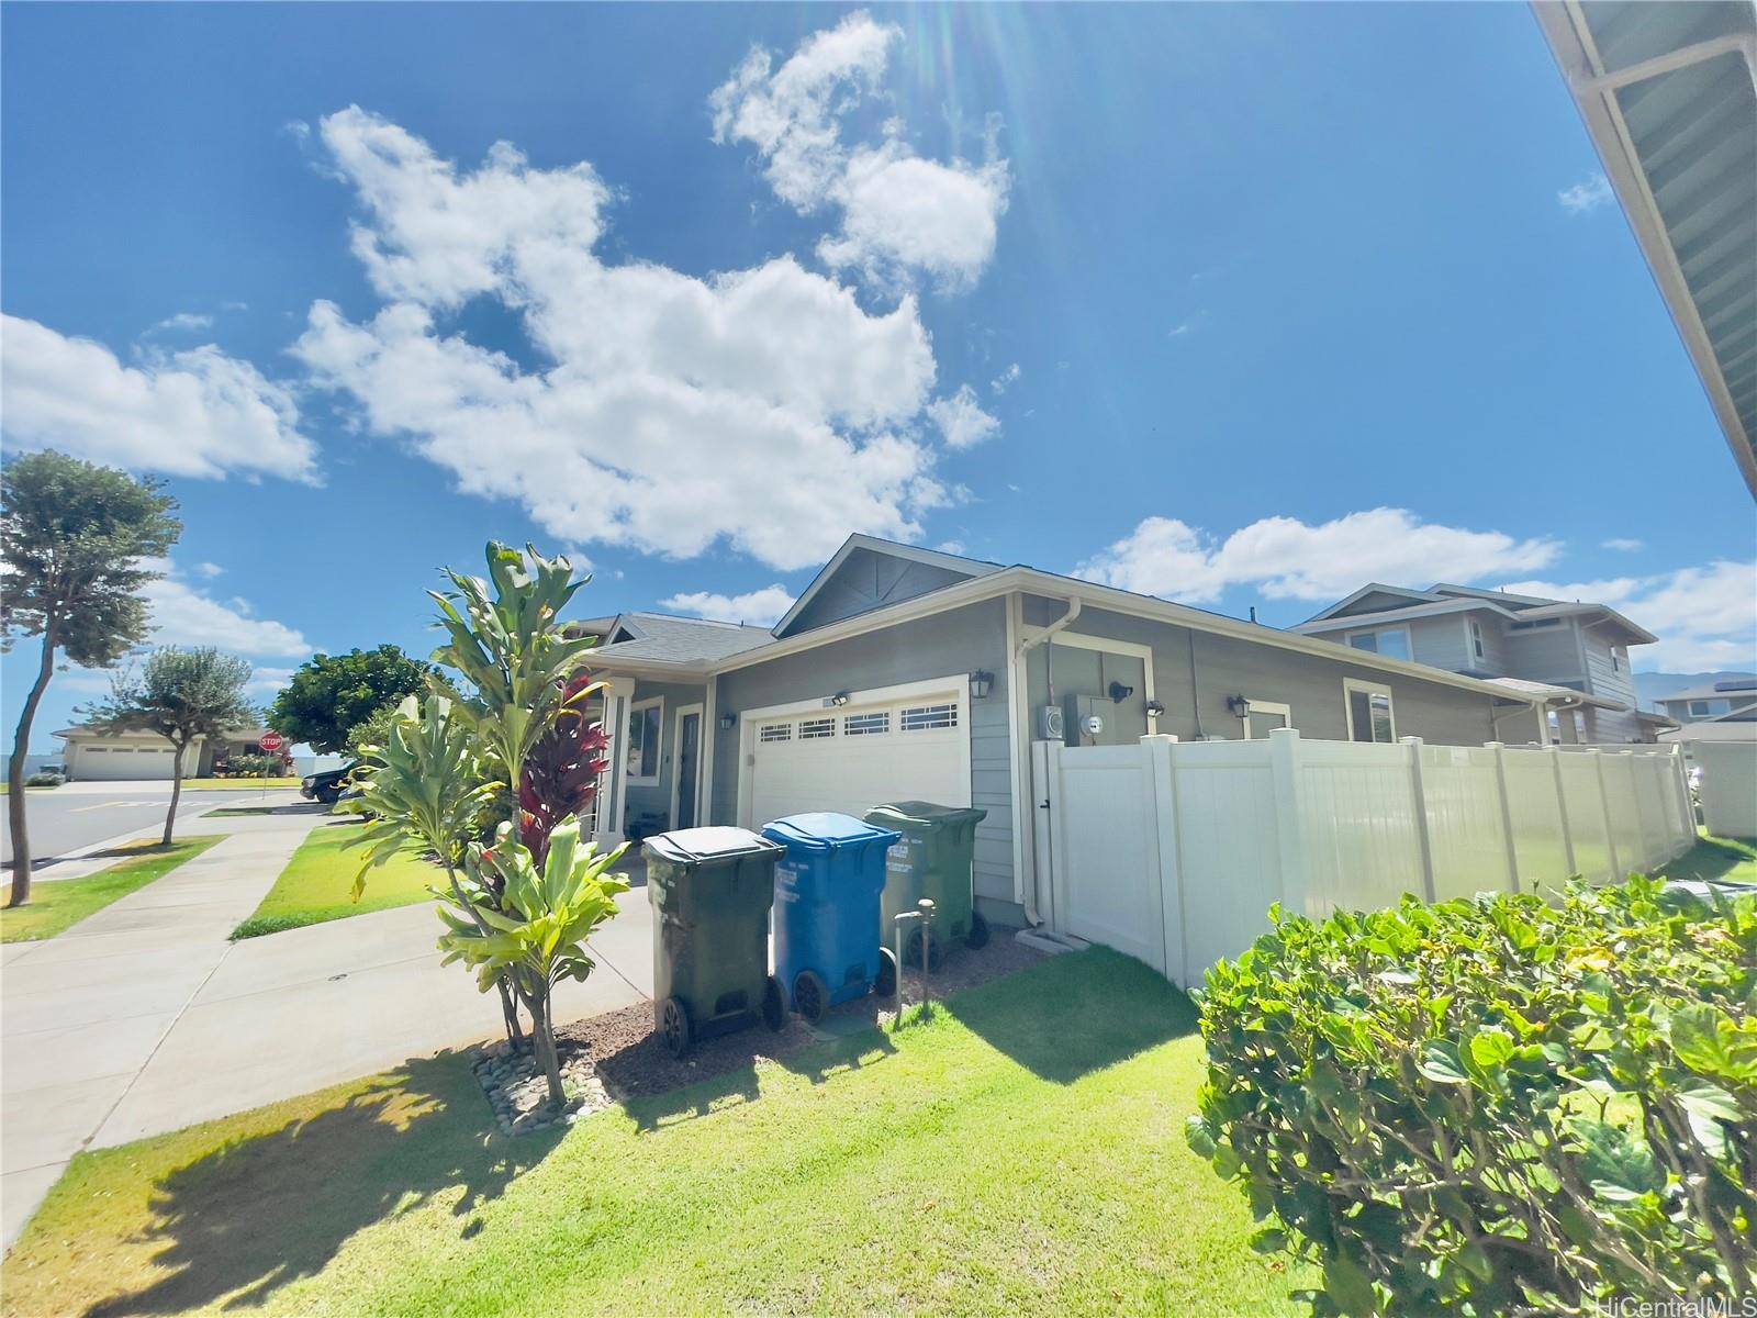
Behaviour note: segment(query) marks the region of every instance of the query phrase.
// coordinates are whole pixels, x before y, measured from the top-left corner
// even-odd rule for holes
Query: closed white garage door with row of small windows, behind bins
[[[959,687],[754,715],[745,822],[763,828],[805,810],[857,817],[884,801],[970,805],[970,721]]]

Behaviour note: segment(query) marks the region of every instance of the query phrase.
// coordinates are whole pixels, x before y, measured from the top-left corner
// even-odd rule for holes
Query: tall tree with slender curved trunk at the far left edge
[[[177,501],[162,482],[135,480],[65,453],[26,453],[0,471],[0,622],[4,648],[42,638],[37,677],[19,708],[7,764],[12,896],[30,902],[25,756],[56,652],[109,668],[148,633],[141,589],[163,576],[151,566],[183,534]]]

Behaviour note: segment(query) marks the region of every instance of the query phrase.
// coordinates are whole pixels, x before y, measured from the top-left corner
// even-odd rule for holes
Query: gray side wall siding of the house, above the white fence
[[[1061,615],[1059,599],[1026,596],[1024,620],[1047,626]],[[1165,705],[1158,729],[1181,740],[1242,735],[1239,719],[1226,710],[1228,696],[1279,701],[1293,710],[1293,726],[1304,736],[1348,740],[1348,710],[1342,680],[1355,677],[1381,684],[1392,692],[1399,736],[1421,736],[1441,745],[1481,745],[1493,740],[1492,701],[1469,691],[1411,677],[1392,677],[1376,668],[1305,655],[1269,645],[1197,633],[1168,622],[1135,619],[1105,610],[1084,610],[1068,627],[1086,636],[1105,636],[1153,647],[1154,698]],[[1195,682],[1189,678],[1195,647]],[[1030,682],[1040,682],[1044,664],[1031,650]]]

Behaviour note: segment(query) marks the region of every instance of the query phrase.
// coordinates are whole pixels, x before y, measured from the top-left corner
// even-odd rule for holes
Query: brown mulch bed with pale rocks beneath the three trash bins
[[[1024,970],[1042,960],[1044,952],[1016,942],[1010,931],[998,930],[987,947],[980,951],[959,947],[945,960],[944,967],[935,967],[931,991],[935,998],[945,998],[959,989]],[[903,974],[903,1003],[914,1005],[917,1002],[921,1002],[921,975],[915,970],[907,970]],[[712,1075],[743,1070],[763,1058],[787,1058],[819,1040],[864,1025],[886,1025],[891,1021],[891,1003],[893,998],[880,1002],[868,995],[829,1012],[821,1028],[806,1025],[798,1016],[789,1016],[787,1025],[778,1033],[757,1025],[738,1033],[705,1039],[682,1061],[673,1058],[659,1035],[654,1033],[650,1002],[638,1002],[606,1016],[564,1025],[555,1032],[555,1039],[564,1056],[578,1056],[583,1051],[592,1060],[592,1072],[604,1091],[615,1100],[624,1100],[668,1093]]]

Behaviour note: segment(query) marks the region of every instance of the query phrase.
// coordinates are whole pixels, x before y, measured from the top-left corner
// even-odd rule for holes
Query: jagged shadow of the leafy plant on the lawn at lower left
[[[355,1232],[439,1193],[457,1195],[452,1213],[467,1218],[459,1234],[469,1239],[478,1209],[560,1141],[559,1132],[488,1137],[481,1090],[455,1054],[409,1061],[369,1086],[165,1176],[144,1239],[163,1241],[153,1264],[172,1272],[100,1300],[86,1318],[260,1304],[322,1272]]]

